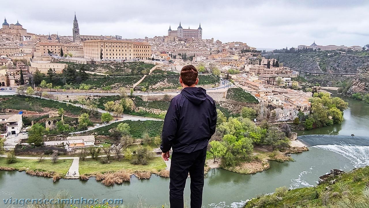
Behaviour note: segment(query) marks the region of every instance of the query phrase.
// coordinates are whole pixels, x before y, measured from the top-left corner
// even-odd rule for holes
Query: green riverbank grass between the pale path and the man
[[[148,171],[158,172],[166,168],[166,164],[161,157],[153,157],[149,160],[148,165],[132,165],[130,161],[112,161],[107,164],[101,164],[99,160],[88,158],[79,161],[79,174],[93,174],[97,172],[119,171]]]

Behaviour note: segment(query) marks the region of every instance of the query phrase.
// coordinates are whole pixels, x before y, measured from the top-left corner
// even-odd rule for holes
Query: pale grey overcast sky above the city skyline
[[[1,8],[8,23],[37,34],[72,35],[76,11],[82,35],[164,36],[181,21],[192,29],[201,22],[203,38],[258,48],[369,43],[368,0],[20,0]]]

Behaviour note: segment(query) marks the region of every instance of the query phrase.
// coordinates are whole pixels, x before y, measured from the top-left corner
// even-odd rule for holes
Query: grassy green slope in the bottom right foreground
[[[245,208],[366,208],[369,207],[369,167],[329,177],[315,187],[277,188],[271,195],[247,202]]]

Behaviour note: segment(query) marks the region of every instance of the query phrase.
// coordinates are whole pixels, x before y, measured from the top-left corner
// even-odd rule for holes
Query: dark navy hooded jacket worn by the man
[[[201,87],[185,87],[165,115],[161,150],[190,153],[207,147],[217,125],[213,98]]]

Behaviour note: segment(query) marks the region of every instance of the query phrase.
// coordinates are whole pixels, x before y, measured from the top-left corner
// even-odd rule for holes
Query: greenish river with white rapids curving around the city
[[[318,177],[331,168],[352,170],[369,165],[369,105],[351,98],[344,112],[344,122],[331,127],[299,131],[299,139],[306,142],[309,151],[293,154],[294,162],[270,162],[270,168],[261,173],[242,175],[222,169],[213,169],[206,175],[203,204],[206,208],[242,207],[244,200],[273,192],[277,187],[310,187]],[[355,136],[351,137],[354,133]],[[317,135],[328,134],[328,135]],[[169,179],[153,175],[149,180],[138,180],[105,187],[94,178],[89,181],[59,180],[34,177],[24,172],[0,171],[0,199],[40,198],[41,194],[56,194],[67,190],[73,198],[122,198],[125,204],[134,204],[138,198],[147,204],[168,204]],[[185,189],[189,200],[189,180]],[[0,207],[3,207],[0,202]],[[6,206],[7,207],[7,206]]]

